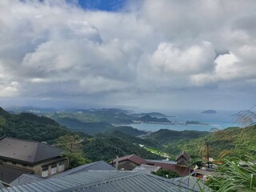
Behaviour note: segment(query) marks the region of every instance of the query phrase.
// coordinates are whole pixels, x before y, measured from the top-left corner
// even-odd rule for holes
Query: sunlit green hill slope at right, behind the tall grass
[[[206,143],[209,144],[210,156],[217,158],[219,154],[231,153],[242,158],[246,153],[256,150],[256,126],[246,128],[230,127],[225,130],[218,130],[202,138],[186,141],[169,143],[166,152],[186,150],[192,155],[206,155]]]

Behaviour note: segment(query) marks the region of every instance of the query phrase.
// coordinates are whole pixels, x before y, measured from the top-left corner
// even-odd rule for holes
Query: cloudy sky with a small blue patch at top
[[[0,106],[244,110],[255,0],[1,0]]]

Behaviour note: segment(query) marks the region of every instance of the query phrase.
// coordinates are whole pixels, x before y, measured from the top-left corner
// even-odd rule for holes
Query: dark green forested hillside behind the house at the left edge
[[[64,126],[46,117],[35,114],[9,114],[0,107],[0,135],[39,142],[54,142],[64,134],[69,134]]]

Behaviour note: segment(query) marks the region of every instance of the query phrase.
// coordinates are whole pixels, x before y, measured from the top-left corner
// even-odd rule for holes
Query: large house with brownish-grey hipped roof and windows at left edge
[[[62,150],[42,142],[19,138],[0,138],[0,174],[2,182],[10,183],[22,174],[47,177],[66,170],[68,159]]]

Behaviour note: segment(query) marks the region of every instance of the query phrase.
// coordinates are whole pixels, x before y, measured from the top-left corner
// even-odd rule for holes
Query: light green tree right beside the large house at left
[[[80,138],[78,134],[66,134],[59,137],[56,146],[64,150],[63,155],[69,158],[70,168],[90,162],[90,160],[85,158],[85,155],[83,154],[82,138]]]

